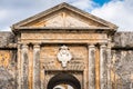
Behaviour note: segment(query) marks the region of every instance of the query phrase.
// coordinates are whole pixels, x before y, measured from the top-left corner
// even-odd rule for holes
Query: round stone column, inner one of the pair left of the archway
[[[33,46],[33,89],[40,89],[40,46]]]

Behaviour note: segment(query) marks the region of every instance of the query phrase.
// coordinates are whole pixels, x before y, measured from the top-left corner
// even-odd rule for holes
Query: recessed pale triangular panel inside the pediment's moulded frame
[[[49,18],[42,18],[41,20],[34,20],[29,23],[23,24],[22,27],[34,27],[34,28],[60,28],[60,27],[106,27],[99,22],[93,22],[93,20],[85,19],[82,16],[78,17],[76,14],[72,13],[71,11],[60,11],[58,13],[53,13],[49,16]]]

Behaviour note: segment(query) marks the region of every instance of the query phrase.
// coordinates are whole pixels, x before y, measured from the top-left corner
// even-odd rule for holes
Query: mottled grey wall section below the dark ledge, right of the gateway
[[[133,50],[112,50],[113,89],[133,89]]]

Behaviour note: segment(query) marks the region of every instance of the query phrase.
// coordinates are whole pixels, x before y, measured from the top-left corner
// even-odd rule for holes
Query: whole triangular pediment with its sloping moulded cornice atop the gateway
[[[86,13],[68,3],[61,3],[44,12],[13,24],[16,29],[28,28],[108,28],[116,29],[111,22]]]

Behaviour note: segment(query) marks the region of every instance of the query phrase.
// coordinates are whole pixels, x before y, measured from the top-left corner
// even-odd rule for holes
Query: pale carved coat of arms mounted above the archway
[[[72,59],[72,55],[69,51],[66,46],[62,46],[58,52],[58,60],[62,63],[62,67],[65,68],[66,63]]]

